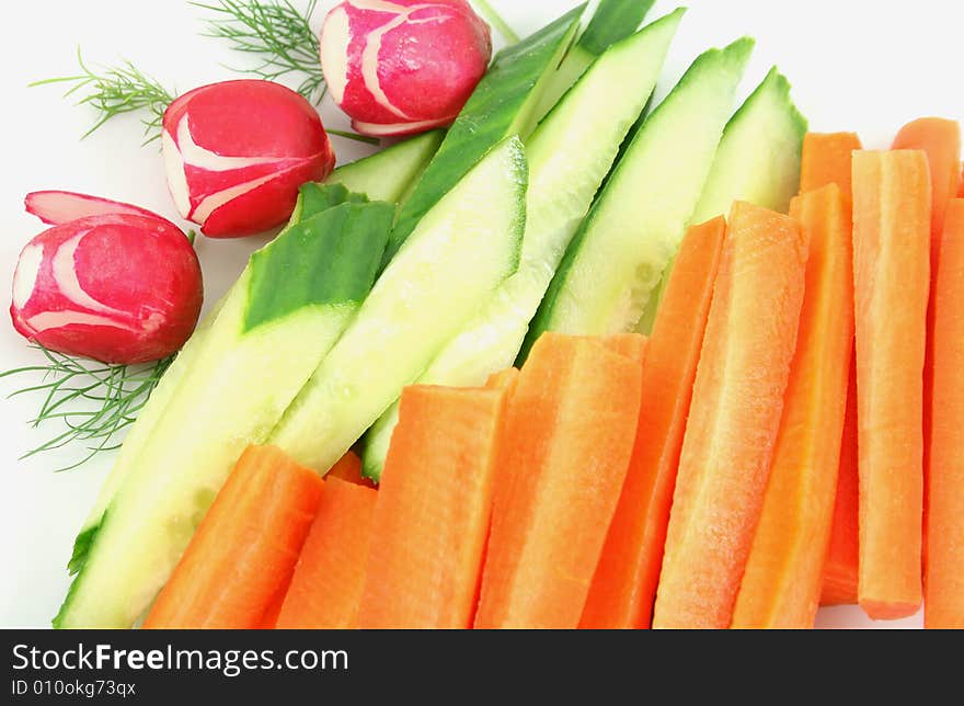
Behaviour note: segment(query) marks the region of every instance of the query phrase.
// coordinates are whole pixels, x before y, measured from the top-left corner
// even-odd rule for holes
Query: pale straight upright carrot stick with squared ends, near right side
[[[921,601],[930,201],[922,151],[854,152],[858,597],[875,619],[913,615]]]

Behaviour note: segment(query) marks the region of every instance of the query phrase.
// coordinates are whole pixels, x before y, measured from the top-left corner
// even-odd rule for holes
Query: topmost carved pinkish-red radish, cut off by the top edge
[[[466,0],[345,0],[321,32],[325,82],[365,135],[448,125],[491,57],[489,25]]]

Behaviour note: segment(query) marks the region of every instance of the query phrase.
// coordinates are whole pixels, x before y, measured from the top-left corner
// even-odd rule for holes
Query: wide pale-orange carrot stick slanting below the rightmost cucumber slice
[[[780,426],[805,264],[794,220],[734,204],[682,443],[654,627],[730,626]]]

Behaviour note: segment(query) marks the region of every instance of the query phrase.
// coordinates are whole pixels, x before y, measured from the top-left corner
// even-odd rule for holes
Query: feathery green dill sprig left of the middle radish
[[[80,47],[77,48],[77,62],[81,72],[77,76],[64,76],[53,79],[34,81],[30,86],[47,86],[50,83],[72,83],[65,98],[79,93],[82,98],[78,105],[90,105],[100,113],[83,137],[87,137],[112,117],[124,113],[145,111],[144,123],[145,145],[159,139],[164,111],[174,100],[174,94],[161,86],[154,78],[141,72],[130,61],[118,66],[105,67],[100,71],[92,70],[83,62]]]

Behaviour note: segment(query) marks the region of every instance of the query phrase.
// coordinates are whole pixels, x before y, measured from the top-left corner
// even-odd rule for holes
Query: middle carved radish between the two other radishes
[[[174,203],[211,238],[280,226],[295,208],[298,187],[324,180],[335,166],[311,104],[271,81],[195,89],[168,106],[163,127]]]

